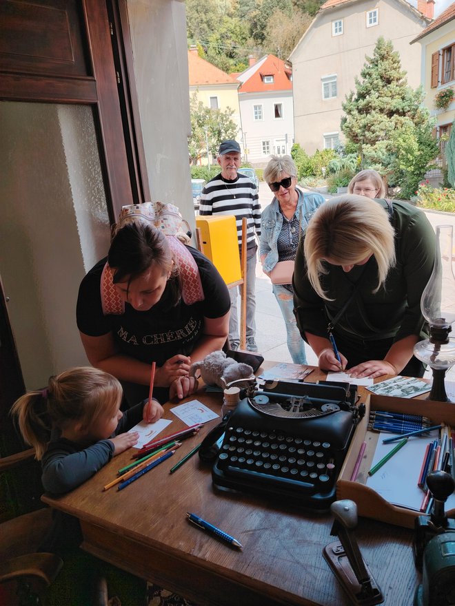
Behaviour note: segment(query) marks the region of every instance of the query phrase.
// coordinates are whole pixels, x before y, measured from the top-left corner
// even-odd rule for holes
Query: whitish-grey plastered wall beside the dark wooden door
[[[176,204],[194,229],[185,3],[128,0],[128,18],[152,200]]]

